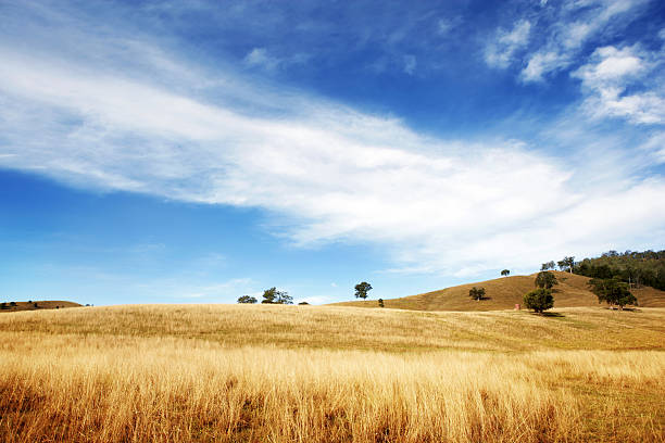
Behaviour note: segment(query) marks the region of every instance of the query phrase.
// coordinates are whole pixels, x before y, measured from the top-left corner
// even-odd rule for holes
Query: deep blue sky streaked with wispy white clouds
[[[0,298],[326,303],[665,246],[665,4],[411,3],[0,1]]]

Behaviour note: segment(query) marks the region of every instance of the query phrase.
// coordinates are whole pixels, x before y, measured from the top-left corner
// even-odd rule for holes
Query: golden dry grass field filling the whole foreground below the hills
[[[662,442],[665,309],[0,316],[4,442]]]

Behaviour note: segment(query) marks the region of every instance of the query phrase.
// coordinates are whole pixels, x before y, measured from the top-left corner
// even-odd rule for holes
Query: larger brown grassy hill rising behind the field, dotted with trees
[[[559,284],[554,287],[554,308],[598,306],[598,298],[589,291],[589,277],[554,271]],[[513,309],[523,304],[522,298],[534,289],[536,274],[530,276],[502,277],[493,280],[461,284],[439,291],[384,300],[386,307],[413,311],[499,311]],[[474,301],[468,296],[473,287],[486,290],[486,300]],[[650,287],[631,290],[643,307],[665,307],[665,291]],[[377,307],[376,300],[334,303],[338,306]]]

